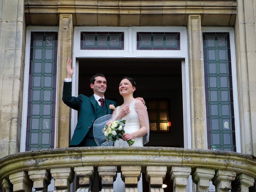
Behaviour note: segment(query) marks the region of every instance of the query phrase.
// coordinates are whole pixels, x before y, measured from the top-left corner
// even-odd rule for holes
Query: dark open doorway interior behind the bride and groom
[[[144,98],[149,114],[150,111],[157,111],[151,107],[152,103],[167,103],[168,129],[150,131],[150,141],[145,146],[184,147],[181,60],[79,58],[78,94],[93,94],[90,78],[97,73],[106,76],[108,84],[105,97],[115,100],[118,105],[123,102],[118,85],[124,76],[134,78],[137,85],[134,97]]]

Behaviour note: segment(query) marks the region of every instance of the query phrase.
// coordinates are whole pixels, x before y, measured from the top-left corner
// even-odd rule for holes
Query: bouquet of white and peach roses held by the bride
[[[115,142],[116,140],[119,140],[122,137],[122,135],[125,133],[124,126],[125,126],[125,120],[118,119],[116,121],[109,121],[105,125],[105,128],[103,130],[106,140],[108,142],[109,141]],[[127,143],[129,144],[129,146],[131,146],[132,144],[134,144],[134,141],[129,140],[127,141]]]

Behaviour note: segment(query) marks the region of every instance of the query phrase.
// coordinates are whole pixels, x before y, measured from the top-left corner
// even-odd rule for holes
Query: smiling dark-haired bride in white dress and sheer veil
[[[124,103],[114,109],[112,119],[126,120],[124,130],[125,134],[122,135],[122,140],[114,142],[114,146],[129,146],[126,141],[134,140],[133,146],[143,146],[149,139],[149,120],[146,107],[141,100],[135,99],[133,93],[136,91],[136,84],[133,78],[124,77],[119,84],[119,93],[124,98]],[[102,117],[104,119],[104,117]],[[100,119],[100,118],[99,118]],[[106,119],[105,119],[106,120]],[[109,120],[109,119],[108,119]],[[94,123],[94,131],[97,130],[96,126],[98,119]],[[102,124],[101,124],[102,127]],[[94,133],[94,137],[96,134]],[[96,143],[97,139],[95,138]],[[100,146],[106,145],[107,142]],[[117,174],[116,181],[114,182],[114,192],[124,192],[124,182],[121,179],[121,174]],[[142,192],[142,177],[138,182],[138,192]]]

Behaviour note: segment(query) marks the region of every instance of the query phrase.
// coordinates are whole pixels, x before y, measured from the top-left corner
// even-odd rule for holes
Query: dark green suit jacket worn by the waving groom
[[[83,94],[78,95],[78,97],[73,97],[72,94],[72,82],[64,82],[62,100],[70,108],[77,110],[79,113],[78,122],[74,134],[70,141],[69,146],[78,146],[86,134],[92,128],[94,121],[96,120],[96,105],[98,102],[95,100],[94,96],[87,97]],[[108,100],[105,98],[106,105],[114,104],[116,102]],[[108,114],[112,114],[113,110],[108,107]]]

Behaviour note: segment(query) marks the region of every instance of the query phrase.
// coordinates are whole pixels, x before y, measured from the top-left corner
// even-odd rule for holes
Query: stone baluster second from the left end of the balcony
[[[27,172],[21,171],[9,175],[10,182],[13,184],[13,191],[32,191],[32,182],[28,177]]]

